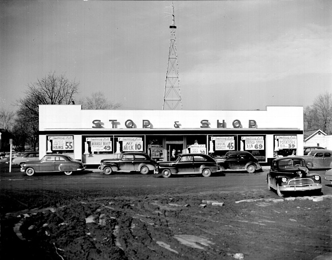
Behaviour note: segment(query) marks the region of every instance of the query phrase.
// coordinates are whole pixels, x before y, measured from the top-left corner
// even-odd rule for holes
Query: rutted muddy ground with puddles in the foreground
[[[41,191],[21,194],[25,200],[15,202],[15,191],[8,192],[2,197],[1,259],[314,259],[330,254],[330,195],[251,195],[184,191],[78,198]],[[57,199],[49,202],[51,196]],[[251,200],[240,201],[244,198]]]

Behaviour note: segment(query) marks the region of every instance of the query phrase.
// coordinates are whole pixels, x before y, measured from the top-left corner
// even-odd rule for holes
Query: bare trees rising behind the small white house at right
[[[319,94],[311,107],[304,110],[304,124],[307,130],[321,129],[332,134],[332,94]]]

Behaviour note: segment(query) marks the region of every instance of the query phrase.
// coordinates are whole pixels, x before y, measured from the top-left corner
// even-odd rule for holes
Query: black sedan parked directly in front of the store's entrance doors
[[[221,172],[220,166],[212,157],[202,153],[183,153],[175,161],[157,163],[157,173],[165,178],[172,174],[202,174],[208,177],[216,172]]]

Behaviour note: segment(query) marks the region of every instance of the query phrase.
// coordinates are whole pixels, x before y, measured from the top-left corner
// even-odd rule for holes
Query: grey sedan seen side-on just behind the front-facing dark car
[[[332,163],[332,150],[315,149],[303,156],[306,167],[309,169],[330,169]]]

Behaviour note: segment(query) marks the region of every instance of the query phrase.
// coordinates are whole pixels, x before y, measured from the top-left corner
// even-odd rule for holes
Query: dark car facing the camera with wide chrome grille
[[[280,197],[285,192],[316,191],[319,194],[322,190],[321,177],[311,174],[305,167],[305,160],[297,156],[274,159],[267,183],[268,189],[276,190]]]

